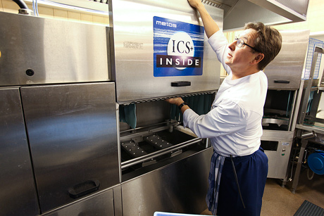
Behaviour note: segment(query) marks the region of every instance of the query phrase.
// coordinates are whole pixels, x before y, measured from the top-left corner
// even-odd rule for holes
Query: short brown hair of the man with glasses
[[[258,63],[258,70],[263,70],[278,55],[282,43],[281,34],[275,28],[263,23],[247,23],[244,30],[247,29],[254,29],[258,32],[254,40],[254,48],[264,54],[264,58]]]

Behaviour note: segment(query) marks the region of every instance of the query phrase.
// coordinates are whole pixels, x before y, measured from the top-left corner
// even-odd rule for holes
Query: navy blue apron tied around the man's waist
[[[260,215],[262,196],[268,174],[268,157],[262,150],[232,158],[237,172],[239,196],[230,158],[225,158],[220,179],[217,215]]]

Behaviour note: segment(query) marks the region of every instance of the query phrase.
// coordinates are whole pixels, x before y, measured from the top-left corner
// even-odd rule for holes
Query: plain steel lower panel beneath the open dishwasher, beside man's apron
[[[123,182],[123,215],[149,216],[156,211],[199,214],[206,210],[212,154],[213,148],[207,148]]]

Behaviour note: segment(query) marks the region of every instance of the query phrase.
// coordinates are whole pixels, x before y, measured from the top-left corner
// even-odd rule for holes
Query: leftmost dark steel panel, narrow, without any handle
[[[0,215],[38,215],[18,88],[0,89]]]

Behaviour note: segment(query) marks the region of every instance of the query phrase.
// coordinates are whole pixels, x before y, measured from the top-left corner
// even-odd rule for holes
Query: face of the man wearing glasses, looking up
[[[256,39],[256,30],[247,29],[239,34],[239,39],[242,39],[244,43],[254,47],[254,39]],[[254,60],[258,53],[254,53],[253,50],[246,45],[237,47],[237,42],[232,42],[228,46],[228,55],[225,58],[225,63],[233,70],[244,70],[250,66],[250,62]]]

